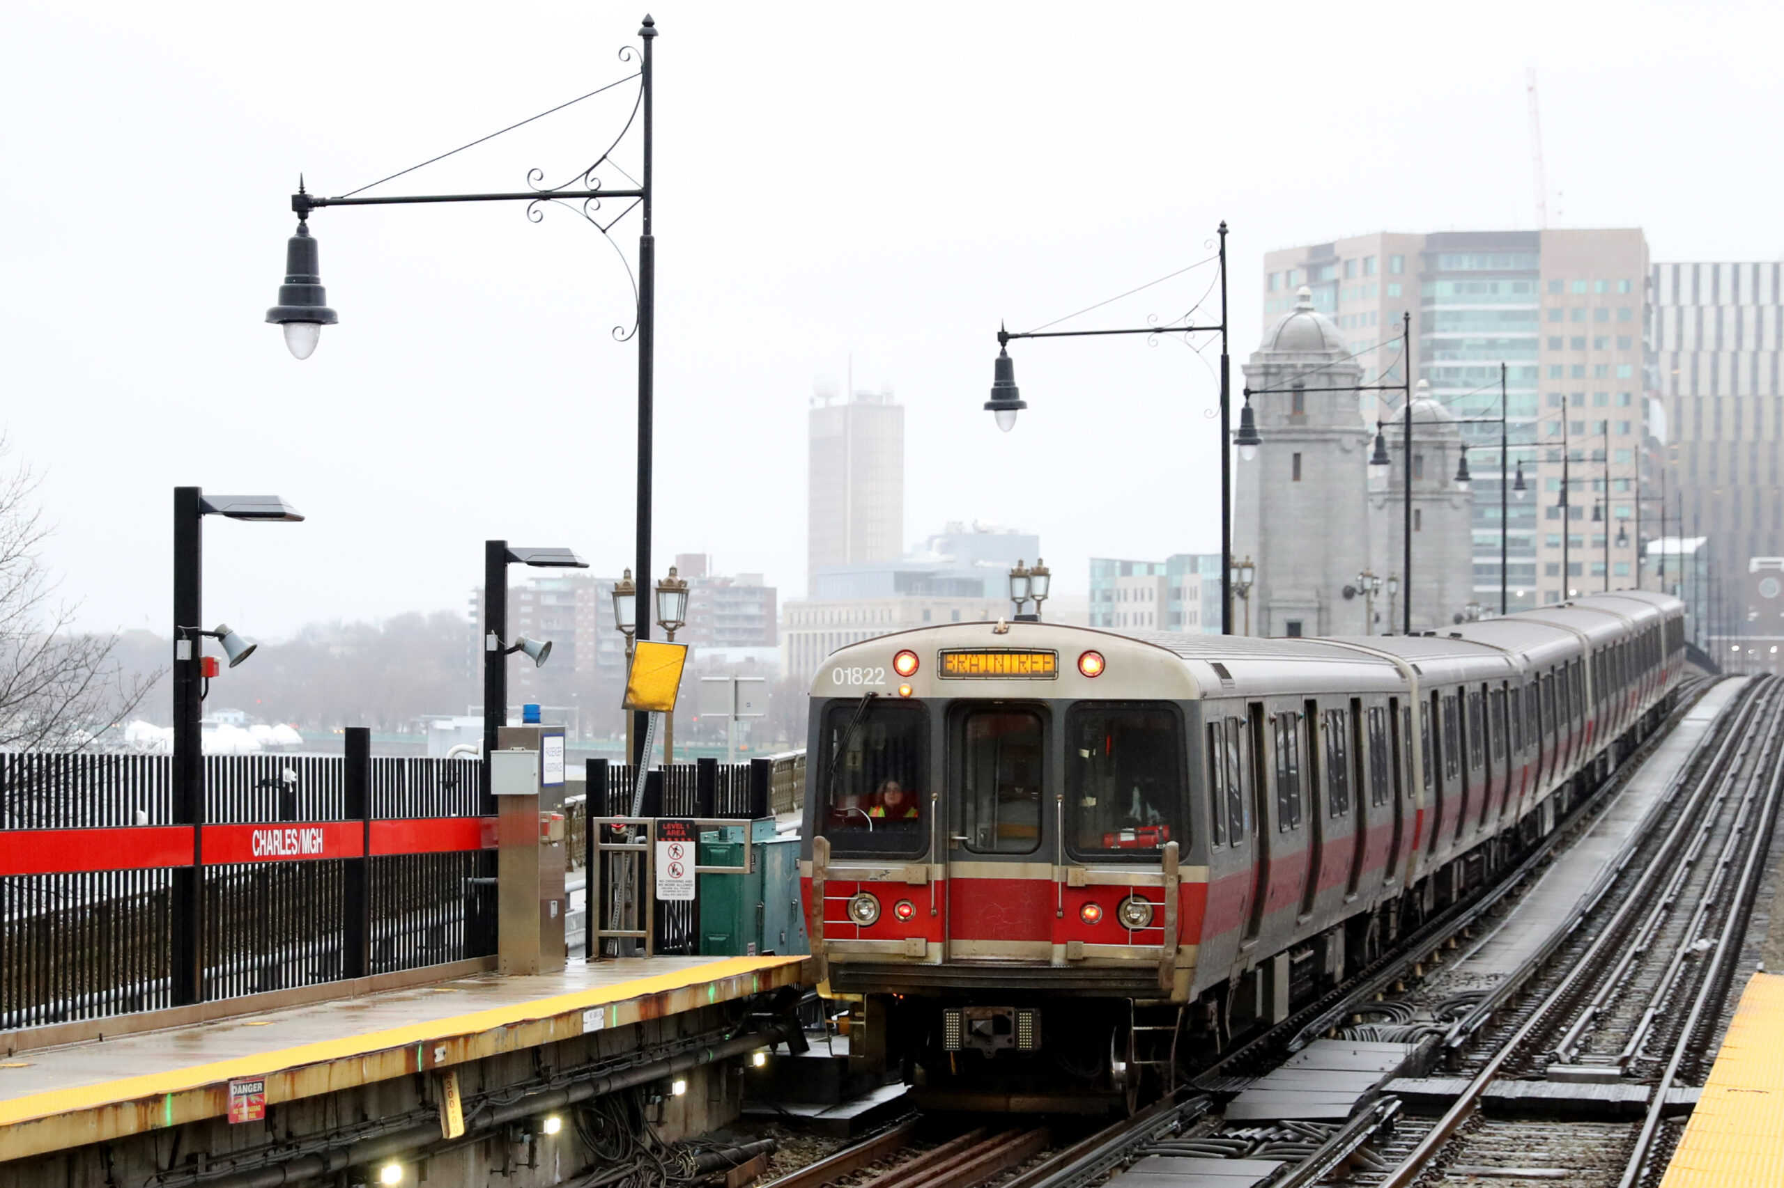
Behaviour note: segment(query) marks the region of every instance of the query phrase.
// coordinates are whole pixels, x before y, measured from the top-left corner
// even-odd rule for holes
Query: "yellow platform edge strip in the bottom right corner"
[[[1784,1184],[1784,976],[1754,974],[1661,1188]]]

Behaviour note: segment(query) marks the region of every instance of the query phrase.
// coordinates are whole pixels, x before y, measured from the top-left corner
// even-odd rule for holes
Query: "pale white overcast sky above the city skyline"
[[[519,203],[318,212],[341,325],[262,323],[303,171],[339,194],[630,71],[632,4],[36,4],[0,37],[4,423],[95,628],[168,630],[171,487],[209,619],[462,608],[480,542],[632,555],[635,346],[614,248]],[[1213,351],[1029,328],[1233,228],[1235,375],[1265,250],[1534,227],[1525,68],[1561,227],[1656,260],[1777,259],[1779,9],[1641,4],[690,4],[657,39],[657,557],[805,585],[814,380],[906,407],[906,539],[1038,532],[1088,558],[1218,548]],[[599,155],[630,84],[373,193],[512,191]],[[635,146],[621,150],[635,169]],[[623,186],[607,175],[610,186]],[[628,253],[635,216],[615,228]],[[1174,318],[1210,269],[1070,325]]]

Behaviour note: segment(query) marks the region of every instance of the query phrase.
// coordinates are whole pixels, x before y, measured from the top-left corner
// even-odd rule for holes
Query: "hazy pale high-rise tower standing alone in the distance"
[[[810,410],[806,567],[904,551],[904,408],[890,389],[817,396]]]

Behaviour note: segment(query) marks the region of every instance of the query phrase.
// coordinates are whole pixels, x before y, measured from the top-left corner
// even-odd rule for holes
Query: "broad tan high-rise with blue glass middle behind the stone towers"
[[[1267,325],[1308,285],[1361,384],[1427,380],[1458,417],[1474,476],[1475,601],[1499,606],[1500,483],[1520,460],[1529,492],[1509,503],[1504,526],[1507,608],[1636,583],[1636,533],[1618,528],[1638,516],[1648,433],[1641,230],[1381,232],[1270,252],[1263,271]],[[1500,364],[1509,464],[1499,451]],[[1390,407],[1361,396],[1367,423]]]

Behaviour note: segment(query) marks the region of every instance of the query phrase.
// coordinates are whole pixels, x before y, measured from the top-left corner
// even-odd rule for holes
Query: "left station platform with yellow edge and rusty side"
[[[808,981],[806,958],[619,958],[473,974],[255,1015],[14,1051],[0,1060],[0,1163],[448,1068]]]

